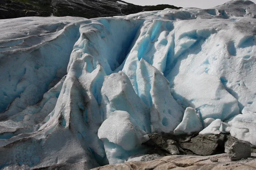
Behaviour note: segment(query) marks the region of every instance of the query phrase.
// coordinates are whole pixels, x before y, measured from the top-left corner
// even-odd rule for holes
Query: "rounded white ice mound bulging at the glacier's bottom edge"
[[[99,139],[102,140],[109,163],[123,162],[120,156],[128,158],[130,151],[148,140],[146,133],[136,125],[126,111],[114,111],[99,127]]]

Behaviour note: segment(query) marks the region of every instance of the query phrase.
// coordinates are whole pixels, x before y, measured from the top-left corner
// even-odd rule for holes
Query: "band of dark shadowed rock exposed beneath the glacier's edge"
[[[150,139],[144,144],[153,147],[149,154],[209,156],[224,153],[225,136],[223,134],[174,136],[167,133],[152,133],[148,136]]]

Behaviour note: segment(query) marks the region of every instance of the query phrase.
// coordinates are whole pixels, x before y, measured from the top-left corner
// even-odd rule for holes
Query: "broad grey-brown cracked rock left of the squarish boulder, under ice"
[[[190,142],[180,143],[180,147],[202,156],[224,153],[224,135],[198,135]]]

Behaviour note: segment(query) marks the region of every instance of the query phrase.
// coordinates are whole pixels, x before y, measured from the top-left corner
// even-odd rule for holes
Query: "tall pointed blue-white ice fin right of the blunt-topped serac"
[[[169,133],[177,127],[183,108],[173,99],[163,74],[141,59],[136,70],[138,95],[150,108],[152,132]]]

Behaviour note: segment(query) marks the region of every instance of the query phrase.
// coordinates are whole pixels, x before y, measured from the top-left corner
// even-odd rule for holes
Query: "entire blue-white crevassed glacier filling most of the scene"
[[[0,169],[120,163],[145,153],[151,132],[256,144],[255,18],[236,0],[0,20]]]

